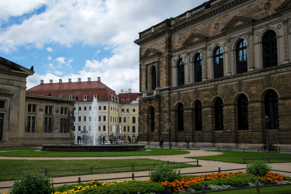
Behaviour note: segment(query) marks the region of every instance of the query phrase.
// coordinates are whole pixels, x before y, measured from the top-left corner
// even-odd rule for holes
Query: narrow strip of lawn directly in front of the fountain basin
[[[40,149],[38,149],[40,150]],[[35,150],[0,152],[0,156],[8,157],[110,157],[110,156],[155,156],[155,155],[176,155],[188,154],[185,150],[155,149],[147,148],[150,151],[139,152],[41,152]]]

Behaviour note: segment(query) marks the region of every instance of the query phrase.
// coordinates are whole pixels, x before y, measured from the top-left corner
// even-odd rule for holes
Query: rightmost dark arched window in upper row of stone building
[[[271,67],[278,64],[276,32],[269,30],[263,36],[263,67]]]

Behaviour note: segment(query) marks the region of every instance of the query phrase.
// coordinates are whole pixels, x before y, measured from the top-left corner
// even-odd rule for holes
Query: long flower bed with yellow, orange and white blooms
[[[143,179],[141,181],[135,181],[130,179],[126,181],[116,182],[90,181],[87,184],[72,186],[72,189],[67,189],[65,191],[56,191],[53,194],[103,194],[117,193],[117,191],[120,194],[136,194],[137,192],[148,194],[170,194],[199,190],[202,188],[202,186],[205,186],[206,189],[253,186],[256,180],[259,180],[260,185],[280,184],[280,182],[284,184],[291,183],[290,177],[286,177],[278,173],[269,172],[265,176],[259,177],[239,171],[212,173],[201,176],[184,176],[182,179],[174,182],[165,181],[160,183],[155,183],[146,179]],[[56,187],[55,189],[65,188],[61,187]]]

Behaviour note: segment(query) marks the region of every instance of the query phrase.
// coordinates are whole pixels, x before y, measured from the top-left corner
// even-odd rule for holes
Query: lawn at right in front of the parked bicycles
[[[213,160],[220,162],[233,162],[233,163],[243,163],[243,156],[246,159],[267,159],[269,156],[270,163],[276,162],[291,162],[291,154],[285,153],[266,153],[266,152],[237,152],[237,151],[226,151],[226,150],[209,150],[209,152],[221,152],[223,154],[215,156],[193,156],[187,158],[202,159],[202,160]],[[289,158],[289,159],[275,159],[275,158]],[[254,160],[246,160],[246,163],[252,163]],[[265,160],[268,162],[267,160]]]

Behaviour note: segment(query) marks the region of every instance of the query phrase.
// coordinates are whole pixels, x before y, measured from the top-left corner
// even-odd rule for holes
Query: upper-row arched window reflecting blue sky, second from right
[[[246,55],[246,41],[241,39],[236,45],[236,73],[248,71],[248,61]]]

